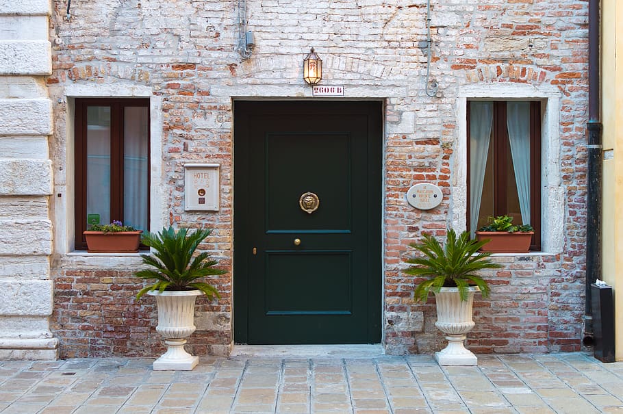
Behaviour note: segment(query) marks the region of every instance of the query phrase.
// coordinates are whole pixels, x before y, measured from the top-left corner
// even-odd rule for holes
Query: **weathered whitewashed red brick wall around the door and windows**
[[[50,36],[54,102],[51,142],[55,185],[71,192],[66,176],[71,136],[68,90],[97,86],[151,88],[162,102],[162,224],[215,229],[205,248],[230,272],[219,282],[222,298],[202,303],[205,324],[193,335],[198,353],[227,353],[231,342],[233,257],[231,99],[311,99],[302,59],[314,46],[324,62],[323,83],[344,85],[347,98],[385,99],[384,331],[387,352],[430,352],[443,337],[433,322],[432,300],[413,302],[413,279],[401,273],[407,247],[428,231],[443,235],[464,226],[459,146],[459,96],[466,88],[485,96],[491,86],[518,84],[559,99],[555,125],[560,170],[562,248],[549,255],[497,257],[504,270],[490,274],[489,300],[478,300],[470,343],[476,352],[548,352],[579,349],[582,337],[587,112],[587,5],[574,1],[432,1],[431,76],[440,86],[424,92],[426,2],[249,0],[248,29],[256,47],[249,60],[236,52],[237,2],[75,2],[66,21],[55,2]],[[75,95],[73,95],[75,96]],[[535,95],[537,96],[537,95]],[[540,96],[540,95],[539,95]],[[71,159],[71,158],[70,158]],[[183,211],[183,163],[218,162],[218,213]],[[458,179],[460,181],[460,179]],[[439,185],[444,201],[431,211],[407,205],[415,183]],[[461,190],[462,189],[462,190]],[[57,200],[55,200],[57,201]],[[57,216],[68,207],[57,205]],[[70,211],[71,216],[71,211]],[[58,219],[60,220],[60,219]],[[462,221],[461,221],[462,220]],[[57,226],[55,237],[65,237]],[[68,231],[65,232],[69,234]],[[131,296],[138,286],[125,270],[66,257],[56,248],[53,331],[64,356],[151,354],[162,350],[151,299]],[[127,259],[132,261],[133,259]],[[123,267],[121,267],[123,269]],[[108,269],[108,270],[106,270]],[[216,324],[219,320],[219,324]],[[211,330],[218,325],[218,329]],[[88,332],[88,335],[87,335]]]

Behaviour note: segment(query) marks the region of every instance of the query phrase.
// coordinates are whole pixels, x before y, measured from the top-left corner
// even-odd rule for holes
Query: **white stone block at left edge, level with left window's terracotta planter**
[[[50,255],[52,224],[49,220],[0,220],[0,240],[1,256]]]

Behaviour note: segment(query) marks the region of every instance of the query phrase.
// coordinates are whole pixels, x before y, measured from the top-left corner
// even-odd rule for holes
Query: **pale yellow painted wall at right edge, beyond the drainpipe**
[[[603,279],[613,286],[616,359],[623,361],[623,6],[602,0],[602,122],[604,159],[602,266]],[[617,294],[617,292],[620,294]]]

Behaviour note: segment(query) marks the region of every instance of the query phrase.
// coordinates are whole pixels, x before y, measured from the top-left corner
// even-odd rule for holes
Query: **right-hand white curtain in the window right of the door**
[[[530,224],[530,103],[507,103],[507,127],[523,224]]]

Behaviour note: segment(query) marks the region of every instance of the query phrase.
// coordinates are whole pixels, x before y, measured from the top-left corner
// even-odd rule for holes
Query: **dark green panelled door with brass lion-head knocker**
[[[381,103],[234,108],[235,341],[379,342]]]

